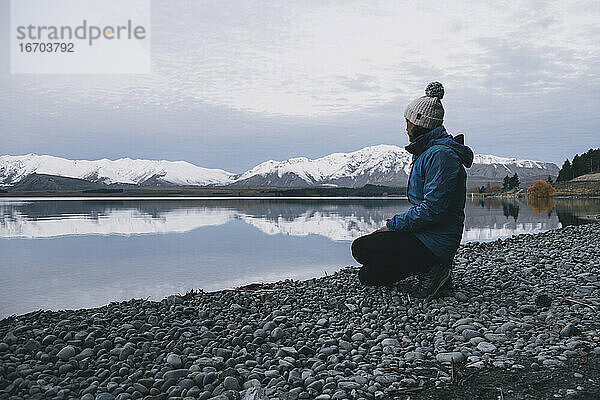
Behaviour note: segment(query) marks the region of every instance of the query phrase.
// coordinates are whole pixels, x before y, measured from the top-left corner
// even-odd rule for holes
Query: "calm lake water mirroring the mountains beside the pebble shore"
[[[0,199],[0,318],[305,279],[356,265],[353,239],[405,199]],[[600,199],[468,199],[463,242],[585,223]]]

